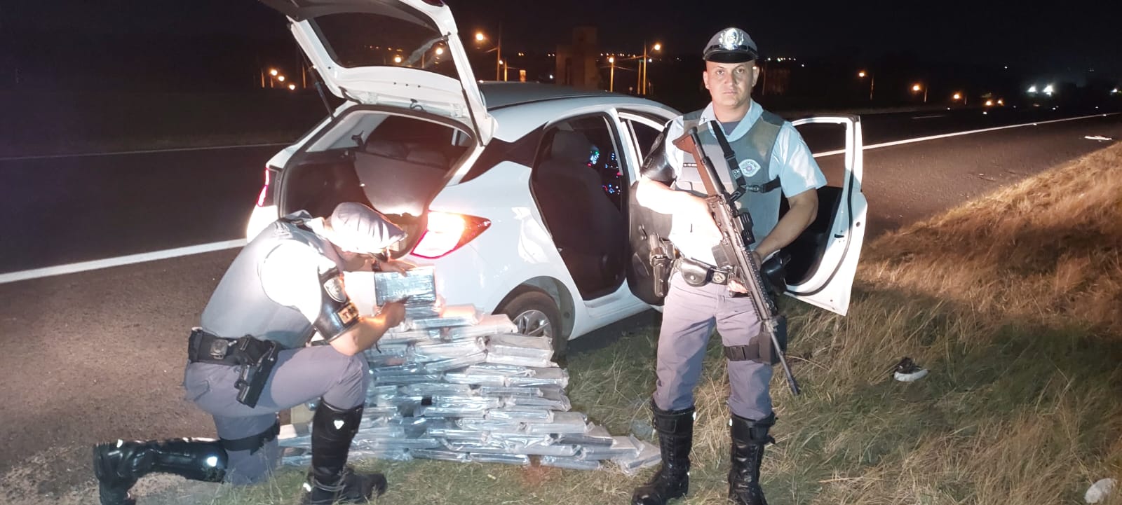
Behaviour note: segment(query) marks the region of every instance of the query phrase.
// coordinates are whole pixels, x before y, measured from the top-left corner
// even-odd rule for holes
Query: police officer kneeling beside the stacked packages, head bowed
[[[233,260],[192,331],[184,389],[214,418],[219,439],[117,441],[93,449],[102,505],[134,504],[149,473],[251,484],[279,464],[277,412],[318,400],[304,504],[365,503],[380,474],[347,466],[369,383],[362,352],[402,322],[390,302],[362,317],[342,272],[365,268],[404,232],[370,207],[339,204],[330,217],[298,212],[273,223]],[[412,265],[380,256],[375,268]],[[325,345],[307,346],[315,333]]]

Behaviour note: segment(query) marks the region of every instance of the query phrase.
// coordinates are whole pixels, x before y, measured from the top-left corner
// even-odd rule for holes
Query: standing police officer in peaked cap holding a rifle
[[[716,327],[728,358],[732,389],[732,469],[728,496],[736,504],[765,505],[760,487],[764,446],[773,441],[767,431],[775,422],[769,383],[770,356],[762,356],[761,321],[746,289],[735,281],[717,284],[712,246],[720,235],[709,214],[698,168],[690,153],[671,141],[700,122],[717,121],[736,153],[745,195],[737,200],[751,213],[753,235],[763,237],[752,258],[760,264],[799,236],[815,219],[818,194],[826,178],[810,149],[790,122],[764,111],[752,100],[760,76],[756,44],[738,28],[720,30],[702,54],[702,81],[711,102],[703,110],[668,123],[643,166],[636,198],[656,213],[670,214],[669,239],[680,258],[670,279],[659,333],[657,385],[652,399],[659,432],[662,467],[644,486],[635,489],[635,505],[661,505],[689,490],[689,452],[693,440],[693,387],[701,374],[706,344]],[[710,134],[710,133],[705,133]],[[659,146],[661,144],[661,147]],[[779,218],[780,196],[790,209]],[[691,275],[708,281],[687,283],[681,270],[706,272]],[[770,343],[767,343],[770,345]]]

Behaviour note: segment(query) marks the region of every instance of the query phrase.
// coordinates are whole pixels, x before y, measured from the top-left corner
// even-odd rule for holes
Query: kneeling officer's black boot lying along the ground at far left
[[[221,483],[227,455],[215,439],[171,439],[101,443],[93,448],[101,505],[132,505],[129,488],[147,474],[160,471],[192,480]]]

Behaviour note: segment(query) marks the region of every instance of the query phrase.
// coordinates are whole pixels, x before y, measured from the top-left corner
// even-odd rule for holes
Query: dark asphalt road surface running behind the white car
[[[888,119],[865,122],[866,144],[939,132],[936,123],[925,122],[939,118]],[[959,130],[986,128],[984,121],[964,118]],[[1017,122],[1023,118],[1009,118]],[[870,234],[1112,143],[1086,135],[1122,138],[1122,116],[867,150]],[[236,239],[259,188],[260,167],[273,151],[2,161],[3,268]],[[819,159],[831,177],[840,161]],[[75,215],[83,219],[72,221]],[[236,253],[0,284],[0,422],[6,428],[0,430],[0,497],[9,503],[28,493],[57,497],[90,486],[92,442],[213,436],[210,419],[182,400],[184,342]],[[572,347],[594,348],[610,331],[585,336]],[[25,478],[20,471],[27,469],[34,471]]]

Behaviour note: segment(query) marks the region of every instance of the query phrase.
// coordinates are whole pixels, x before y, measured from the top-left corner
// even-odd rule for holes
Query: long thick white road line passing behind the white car
[[[1078,116],[1078,118],[1066,118],[1066,119],[1057,119],[1057,120],[1049,120],[1049,121],[1037,121],[1037,122],[1033,122],[1033,123],[1013,124],[1013,125],[1009,125],[1009,127],[994,127],[994,128],[985,128],[985,129],[982,129],[982,130],[959,131],[959,132],[955,132],[955,133],[944,133],[944,134],[940,134],[940,135],[920,137],[920,138],[917,138],[917,139],[907,139],[907,140],[896,140],[896,141],[893,141],[893,142],[884,142],[884,143],[872,144],[872,146],[865,146],[864,150],[877,149],[877,148],[886,148],[889,146],[900,146],[900,144],[911,143],[911,142],[922,142],[925,140],[945,139],[947,137],[967,135],[967,134],[971,134],[971,133],[982,133],[982,132],[985,132],[985,131],[1004,130],[1004,129],[1008,129],[1008,128],[1031,127],[1031,125],[1045,124],[1045,123],[1056,123],[1056,122],[1060,122],[1060,121],[1074,121],[1074,120],[1087,119],[1087,118],[1102,118],[1102,116],[1114,115],[1114,114],[1122,114],[1122,112],[1112,112],[1112,113],[1105,113],[1105,114],[1082,115],[1082,116]],[[259,144],[259,146],[275,146],[275,144]],[[234,146],[234,147],[249,147],[249,146]],[[200,148],[200,149],[214,149],[214,148]],[[137,152],[157,152],[157,151],[137,151]],[[837,151],[817,152],[817,153],[815,153],[815,158],[821,158],[821,157],[826,157],[826,156],[834,156],[834,155],[842,155],[842,153],[845,153],[845,149],[840,149],[840,150],[837,150]],[[65,156],[73,156],[73,155],[65,155]],[[96,156],[96,155],[90,155],[90,156]],[[20,271],[20,272],[0,273],[0,284],[6,283],[6,282],[16,282],[16,281],[21,281],[21,280],[27,280],[27,279],[37,279],[37,278],[42,278],[42,277],[61,275],[61,274],[64,274],[64,273],[84,272],[86,270],[108,269],[110,266],[120,266],[120,265],[125,265],[125,264],[142,263],[142,262],[146,262],[146,261],[165,260],[165,259],[168,259],[168,258],[176,258],[176,256],[186,256],[186,255],[190,255],[190,254],[200,254],[200,253],[204,253],[204,252],[221,251],[221,250],[226,250],[226,249],[236,249],[236,247],[241,247],[243,245],[246,245],[246,241],[245,240],[233,240],[233,241],[226,241],[226,242],[212,242],[210,244],[190,245],[190,246],[186,246],[186,247],[167,249],[167,250],[164,250],[164,251],[154,251],[154,252],[149,252],[149,253],[130,254],[130,255],[127,255],[127,256],[118,256],[118,258],[108,258],[108,259],[104,259],[104,260],[84,261],[84,262],[81,262],[81,263],[62,264],[62,265],[57,265],[57,266],[46,266],[46,268],[35,269],[35,270],[24,270],[24,271]]]

